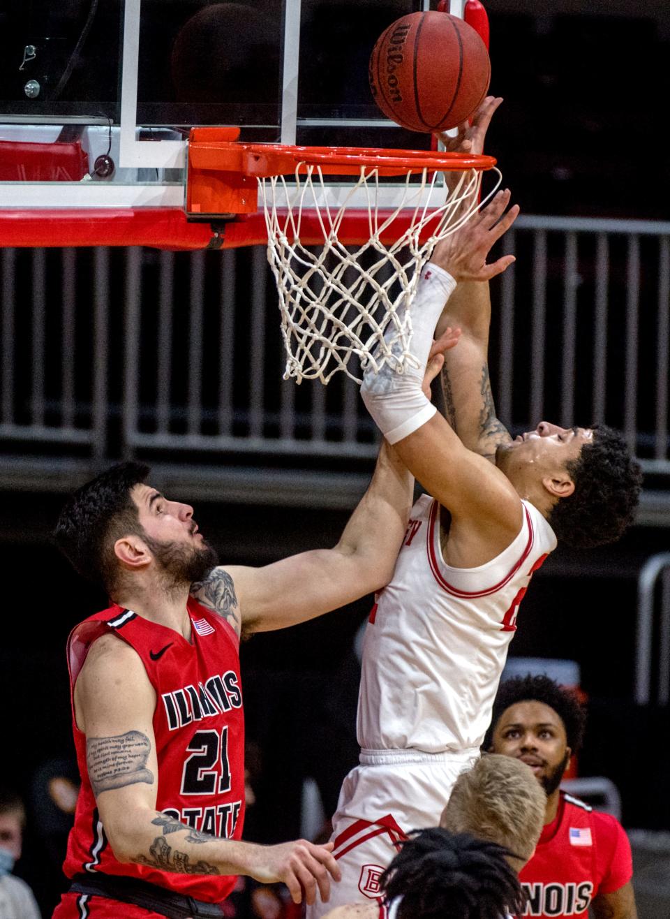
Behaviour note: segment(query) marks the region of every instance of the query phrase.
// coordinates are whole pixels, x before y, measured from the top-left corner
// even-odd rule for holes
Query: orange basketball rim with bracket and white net
[[[406,307],[435,244],[485,203],[482,172],[494,168],[494,158],[237,143],[230,131],[191,132],[187,212],[254,213],[260,195],[287,352],[284,379],[327,383],[343,370],[359,382],[349,368],[354,356],[375,372],[384,364],[399,373],[414,366]],[[485,200],[500,184],[495,172]],[[441,185],[442,173],[452,181]],[[348,181],[334,188],[326,176]],[[389,176],[402,176],[391,205],[383,182]]]

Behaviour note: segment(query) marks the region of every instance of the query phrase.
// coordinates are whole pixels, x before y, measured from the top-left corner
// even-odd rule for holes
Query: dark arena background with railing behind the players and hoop
[[[491,91],[505,98],[486,152],[522,213],[503,242],[517,265],[493,285],[500,417],[513,435],[543,417],[570,425],[602,418],[625,432],[645,474],[636,524],[619,544],[559,549],[534,576],[511,658],[543,659],[550,672],[551,662],[573,662],[588,709],[577,775],[596,779],[596,802],[609,783],[619,792],[640,917],[667,919],[670,160],[659,135],[670,8],[661,0],[484,5]],[[206,76],[194,75],[202,47],[194,17],[226,6],[244,53],[233,60],[215,11],[210,39],[228,48],[230,65],[220,73],[218,59],[200,55]],[[142,0],[143,130],[263,124],[249,134],[278,141],[284,7],[249,3],[243,28],[239,6]],[[367,85],[369,51],[386,25],[418,8],[411,0],[303,0],[299,142],[428,148],[429,138],[399,128],[359,130],[352,140],[344,124],[360,113],[380,118]],[[6,159],[14,135],[5,121],[61,118],[72,127],[90,113],[112,136],[122,12],[109,0],[89,25],[84,0],[0,8],[0,189],[21,181]],[[28,46],[43,53],[19,72]],[[28,76],[42,87],[35,105]],[[65,494],[111,462],[144,459],[153,484],[194,505],[221,562],[263,565],[335,544],[369,480],[377,439],[342,374],[327,388],[281,379],[276,291],[262,246],[187,253],[75,249],[67,238],[49,248],[6,242],[0,297],[0,783],[26,801],[17,874],[47,916],[64,887],[70,820],[52,783],[76,783],[65,641],[75,623],[107,606],[52,545]],[[256,797],[245,838],[317,834],[334,810],[358,758],[358,640],[372,602],[244,642]]]

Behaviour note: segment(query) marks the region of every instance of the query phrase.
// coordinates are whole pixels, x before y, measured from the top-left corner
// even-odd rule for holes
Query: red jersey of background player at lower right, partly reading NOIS
[[[561,792],[558,813],[519,874],[528,893],[526,916],[586,916],[599,893],[632,877],[630,843],[619,821]]]

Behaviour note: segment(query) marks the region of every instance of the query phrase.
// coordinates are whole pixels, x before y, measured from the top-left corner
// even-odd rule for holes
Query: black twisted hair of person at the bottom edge
[[[387,901],[403,897],[398,919],[500,919],[526,903],[508,855],[469,833],[414,830],[380,883]]]

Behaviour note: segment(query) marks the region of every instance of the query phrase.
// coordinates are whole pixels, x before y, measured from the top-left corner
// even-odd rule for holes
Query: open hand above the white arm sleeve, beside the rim
[[[511,193],[499,191],[482,210],[477,211],[459,230],[437,243],[430,261],[456,281],[488,281],[502,274],[514,261],[514,255],[503,255],[491,265],[486,258],[494,243],[517,220],[519,207],[513,205],[505,213]]]

